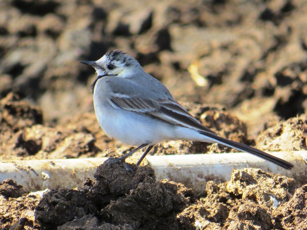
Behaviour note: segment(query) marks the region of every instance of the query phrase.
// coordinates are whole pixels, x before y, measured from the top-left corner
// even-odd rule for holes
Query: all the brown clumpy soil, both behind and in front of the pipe
[[[270,1],[0,2],[0,157],[121,156],[96,121],[92,68],[111,49],[134,56],[196,119],[265,151],[307,148],[307,3]],[[222,153],[169,141],[150,154]],[[141,153],[140,153],[141,154]],[[307,185],[234,169],[195,196],[150,167],[97,168],[80,189],[30,193],[0,182],[0,228],[307,229]],[[302,175],[305,177],[306,175]]]

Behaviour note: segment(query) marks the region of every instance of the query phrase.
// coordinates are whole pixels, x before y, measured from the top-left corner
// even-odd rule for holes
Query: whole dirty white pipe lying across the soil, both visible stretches
[[[248,153],[193,154],[147,156],[157,180],[181,182],[195,193],[204,190],[207,181],[225,182],[234,168],[260,168],[297,180],[306,179],[307,151],[271,152],[290,161],[292,170],[285,170]],[[82,187],[86,178],[93,178],[96,167],[107,158],[28,160],[0,162],[0,182],[12,178],[30,191]]]

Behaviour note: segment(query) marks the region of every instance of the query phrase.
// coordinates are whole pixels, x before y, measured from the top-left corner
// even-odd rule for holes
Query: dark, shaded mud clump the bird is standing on
[[[134,174],[122,164],[103,164],[95,173],[95,183],[88,180],[80,190],[45,194],[36,207],[36,219],[45,229],[63,224],[59,229],[67,229],[68,222],[76,225],[75,219],[89,217],[94,218],[95,227],[178,229],[176,215],[188,201],[177,186],[156,181],[149,167],[131,167]]]

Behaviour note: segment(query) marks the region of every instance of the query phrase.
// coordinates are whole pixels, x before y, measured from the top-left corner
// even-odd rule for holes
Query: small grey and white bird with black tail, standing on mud
[[[136,59],[122,51],[111,51],[97,61],[80,62],[94,67],[98,75],[91,85],[91,92],[101,128],[110,138],[138,146],[122,157],[108,159],[108,163],[125,163],[127,157],[149,145],[138,160],[138,166],[157,143],[192,140],[220,143],[257,155],[285,169],[293,167],[266,152],[217,136],[176,102],[169,90],[147,74]]]

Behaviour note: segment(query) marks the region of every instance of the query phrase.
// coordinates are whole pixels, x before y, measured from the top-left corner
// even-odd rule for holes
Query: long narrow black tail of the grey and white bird
[[[241,143],[235,142],[233,140],[228,140],[228,139],[225,139],[225,138],[220,137],[220,136],[216,136],[216,135],[208,133],[208,132],[200,132],[200,134],[202,134],[206,137],[209,137],[210,139],[212,139],[216,143],[223,144],[223,145],[229,146],[231,148],[238,149],[240,151],[244,151],[244,152],[247,152],[247,153],[254,154],[254,155],[261,157],[263,159],[266,159],[266,160],[268,160],[268,161],[270,161],[274,164],[277,164],[277,165],[279,165],[279,166],[281,166],[285,169],[292,169],[293,168],[293,164],[291,164],[291,163],[289,163],[289,162],[287,162],[283,159],[280,159],[278,157],[272,156],[272,155],[270,155],[270,154],[268,154],[264,151],[253,148],[251,146],[241,144]]]

